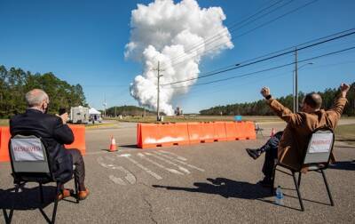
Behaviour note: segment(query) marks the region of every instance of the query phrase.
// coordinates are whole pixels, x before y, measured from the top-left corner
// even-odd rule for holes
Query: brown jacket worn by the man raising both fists
[[[299,170],[312,131],[319,127],[334,130],[347,100],[340,97],[335,100],[333,108],[327,111],[320,109],[312,114],[304,112],[294,114],[274,99],[267,102],[277,116],[288,123],[279,143],[279,162]]]

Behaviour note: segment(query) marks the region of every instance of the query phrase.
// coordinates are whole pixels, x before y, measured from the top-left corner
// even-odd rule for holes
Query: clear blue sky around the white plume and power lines
[[[150,2],[0,0],[0,64],[33,73],[53,72],[70,84],[82,84],[86,99],[94,108],[103,108],[104,97],[107,107],[138,105],[130,97],[129,85],[141,73],[142,66],[136,61],[125,60],[123,52],[130,40],[130,12],[137,8],[137,4]],[[198,1],[201,7],[222,7],[226,26],[243,20],[272,2]],[[312,1],[293,1],[271,16],[237,29],[232,36],[309,2]],[[232,50],[212,59],[202,59],[201,73],[355,28],[354,9],[355,1],[352,0],[319,0],[248,35],[234,37]],[[299,52],[299,60],[351,46],[355,46],[355,35]],[[197,84],[293,60],[294,56],[290,54],[278,60],[202,78]],[[337,87],[341,82],[355,81],[355,50],[312,62],[313,65],[304,66],[299,71],[300,91],[323,91]],[[287,95],[292,93],[292,70],[293,67],[288,67],[228,82],[197,85],[189,93],[173,100],[173,105],[180,106],[187,113],[217,105],[260,100],[259,90],[264,85],[270,86],[275,96]]]

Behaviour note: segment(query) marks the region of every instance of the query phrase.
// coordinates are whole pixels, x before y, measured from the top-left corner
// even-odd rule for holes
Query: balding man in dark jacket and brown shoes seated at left
[[[48,150],[51,171],[56,180],[62,184],[59,199],[70,196],[71,190],[64,188],[64,183],[71,179],[73,172],[78,180],[79,199],[85,199],[89,195],[89,190],[84,185],[83,156],[78,149],[66,149],[63,146],[74,141],[73,132],[67,126],[67,113],[60,116],[47,114],[50,100],[43,90],[34,89],[26,93],[25,98],[28,104],[26,112],[13,116],[10,120],[12,136],[35,135],[41,138]],[[75,164],[75,171],[73,171],[73,164]]]

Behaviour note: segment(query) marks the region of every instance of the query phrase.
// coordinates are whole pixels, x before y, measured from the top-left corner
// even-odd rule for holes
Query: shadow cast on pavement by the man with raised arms
[[[153,185],[154,188],[166,188],[169,190],[183,190],[187,192],[213,194],[243,199],[258,199],[272,196],[269,188],[263,188],[258,184],[243,181],[229,180],[225,178],[207,179],[209,182],[195,182],[196,188],[180,188],[171,186]]]

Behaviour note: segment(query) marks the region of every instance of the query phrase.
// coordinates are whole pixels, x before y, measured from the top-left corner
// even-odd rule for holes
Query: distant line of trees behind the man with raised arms
[[[331,108],[335,97],[340,93],[338,89],[326,89],[324,92],[318,92],[322,99],[323,104],[322,108],[328,109]],[[304,92],[299,93],[299,102],[301,103],[304,99]],[[351,84],[351,89],[347,95],[348,103],[346,104],[343,115],[355,116],[355,83]],[[292,94],[281,97],[278,99],[281,104],[292,109],[293,108],[293,96]],[[274,113],[269,108],[264,100],[257,100],[254,102],[245,102],[245,103],[236,103],[226,106],[217,106],[214,108],[203,109],[200,111],[200,114],[203,116],[234,116],[234,115],[243,115],[243,116],[272,116]]]

